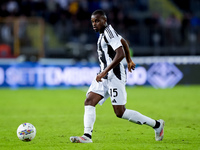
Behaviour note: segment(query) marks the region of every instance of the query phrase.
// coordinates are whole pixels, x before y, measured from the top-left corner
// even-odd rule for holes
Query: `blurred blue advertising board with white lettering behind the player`
[[[0,87],[89,86],[98,72],[98,64],[0,64]],[[128,86],[172,88],[177,84],[200,84],[200,64],[154,62],[139,64],[132,73],[127,71]]]

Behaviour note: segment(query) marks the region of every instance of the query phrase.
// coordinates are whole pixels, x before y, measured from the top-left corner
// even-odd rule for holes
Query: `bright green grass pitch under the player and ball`
[[[126,107],[165,120],[163,141],[154,130],[115,117],[110,99],[97,105],[93,143],[71,143],[83,134],[84,89],[0,89],[1,150],[200,150],[200,86],[127,87]],[[17,127],[32,123],[35,139],[22,142]]]

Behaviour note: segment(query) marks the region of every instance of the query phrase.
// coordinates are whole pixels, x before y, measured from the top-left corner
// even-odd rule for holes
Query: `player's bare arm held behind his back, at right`
[[[121,43],[125,51],[125,57],[126,57],[127,65],[128,65],[128,70],[132,72],[132,70],[135,69],[135,63],[131,59],[128,43],[126,42],[124,38],[121,39]]]

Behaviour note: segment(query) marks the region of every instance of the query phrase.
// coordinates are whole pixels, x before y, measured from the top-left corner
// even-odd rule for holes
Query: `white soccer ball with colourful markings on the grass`
[[[31,123],[23,123],[17,128],[17,136],[20,140],[29,142],[34,139],[36,128]]]

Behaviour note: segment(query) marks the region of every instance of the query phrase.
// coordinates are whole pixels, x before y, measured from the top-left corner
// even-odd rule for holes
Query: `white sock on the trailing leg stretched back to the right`
[[[130,110],[130,109],[125,110],[122,118],[127,119],[127,120],[137,123],[137,124],[141,124],[141,125],[147,124],[151,127],[154,127],[156,124],[155,120],[153,120],[147,116],[144,116],[135,110]]]

